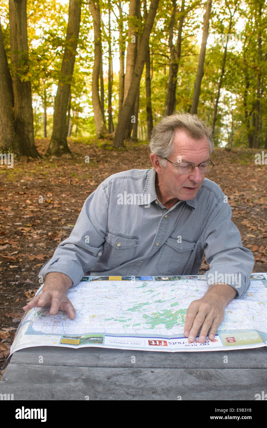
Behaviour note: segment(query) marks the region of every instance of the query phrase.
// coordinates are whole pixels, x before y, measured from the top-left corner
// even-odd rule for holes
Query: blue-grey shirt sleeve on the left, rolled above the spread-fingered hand
[[[47,273],[60,272],[78,284],[84,273],[99,259],[107,235],[109,204],[102,184],[86,199],[77,222],[67,239],[56,248],[53,257],[39,272],[43,280]]]

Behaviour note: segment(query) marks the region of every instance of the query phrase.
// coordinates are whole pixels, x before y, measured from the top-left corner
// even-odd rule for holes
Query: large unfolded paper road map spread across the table
[[[149,351],[219,351],[267,346],[267,274],[253,273],[249,289],[225,307],[214,340],[189,342],[187,309],[208,290],[200,276],[84,276],[67,295],[76,309],[24,314],[10,354],[31,346],[103,347]],[[42,291],[42,287],[36,295]],[[200,332],[199,332],[200,333]]]

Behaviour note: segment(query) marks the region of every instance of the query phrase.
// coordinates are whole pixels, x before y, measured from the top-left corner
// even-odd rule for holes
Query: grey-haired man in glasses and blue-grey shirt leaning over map
[[[210,286],[190,304],[184,335],[193,341],[201,328],[199,342],[208,331],[214,339],[225,306],[249,288],[253,255],[226,196],[205,178],[213,167],[210,129],[196,115],[173,114],[154,127],[150,148],[152,169],[113,174],[86,199],[71,235],[39,273],[42,293],[24,310],[51,306],[73,319],[66,291],[85,273],[196,275],[205,250]]]

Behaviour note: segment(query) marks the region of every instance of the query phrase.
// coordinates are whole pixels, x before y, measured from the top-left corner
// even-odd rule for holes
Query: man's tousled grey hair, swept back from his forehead
[[[190,113],[173,113],[170,116],[163,117],[163,119],[154,126],[149,144],[151,153],[161,158],[169,158],[174,149],[173,140],[175,132],[178,129],[186,131],[190,137],[196,140],[200,140],[206,135],[211,155],[214,149],[212,128],[208,127],[196,114]],[[160,163],[163,167],[167,165],[165,159],[160,159]]]

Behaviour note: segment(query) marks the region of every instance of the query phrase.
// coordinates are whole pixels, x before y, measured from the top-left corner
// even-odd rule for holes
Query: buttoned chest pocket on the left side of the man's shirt
[[[104,252],[108,267],[117,268],[123,263],[135,258],[139,236],[123,235],[122,233],[107,232]]]

